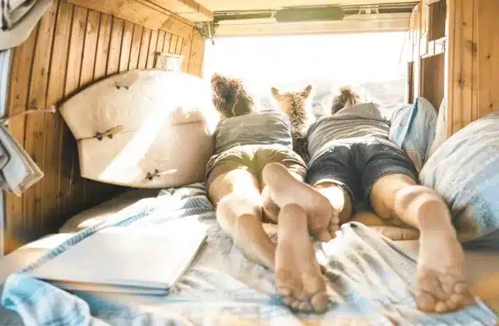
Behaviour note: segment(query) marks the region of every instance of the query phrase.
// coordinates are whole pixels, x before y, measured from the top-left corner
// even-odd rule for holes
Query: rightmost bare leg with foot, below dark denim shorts
[[[421,234],[416,284],[419,309],[444,313],[473,304],[463,250],[448,207],[437,192],[406,175],[392,174],[380,178],[369,196],[381,218],[400,218]]]

